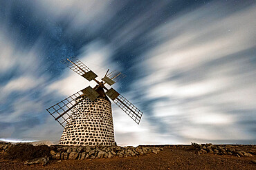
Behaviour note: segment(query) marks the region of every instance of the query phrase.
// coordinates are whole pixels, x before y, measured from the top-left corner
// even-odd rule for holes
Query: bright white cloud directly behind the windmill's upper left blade
[[[110,61],[111,50],[111,46],[105,45],[101,41],[94,41],[83,47],[80,56],[77,56],[77,58],[95,72],[98,75],[96,79],[101,81],[108,69],[110,69],[110,72],[118,70],[118,65]],[[71,94],[84,89],[88,85],[91,87],[96,85],[95,81],[89,82],[68,68],[62,75],[59,81],[48,85],[48,92],[58,92],[63,96],[71,96]],[[118,85],[114,85],[114,87],[118,87]]]

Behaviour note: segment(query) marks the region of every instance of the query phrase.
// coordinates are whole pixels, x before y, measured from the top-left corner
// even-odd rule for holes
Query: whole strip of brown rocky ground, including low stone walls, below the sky
[[[0,143],[0,169],[256,169],[255,145],[62,147]]]

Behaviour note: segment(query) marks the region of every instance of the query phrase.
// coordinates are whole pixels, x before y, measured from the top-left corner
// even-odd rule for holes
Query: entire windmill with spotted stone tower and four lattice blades
[[[107,70],[101,81],[98,81],[97,74],[79,59],[70,57],[61,62],[86,80],[95,81],[97,85],[86,87],[46,109],[64,127],[60,145],[115,145],[109,98],[137,124],[140,123],[143,112],[115,89],[105,86],[106,83],[111,86],[125,78],[124,74],[116,71],[108,74]]]

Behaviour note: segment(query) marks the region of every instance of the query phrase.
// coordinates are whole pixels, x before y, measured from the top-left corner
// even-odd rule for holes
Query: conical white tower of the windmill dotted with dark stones
[[[60,145],[115,145],[111,102],[101,87],[96,92],[100,96],[93,102],[84,95],[76,98],[82,102],[71,109]]]

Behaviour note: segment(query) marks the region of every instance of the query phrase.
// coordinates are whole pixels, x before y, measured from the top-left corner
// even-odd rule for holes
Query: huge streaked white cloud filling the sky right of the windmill
[[[149,112],[161,134],[183,142],[256,140],[255,131],[248,133],[250,125],[239,124],[241,116],[251,118],[243,113],[246,109],[256,109],[256,7],[226,14],[226,6],[214,6],[182,13],[152,31],[149,36],[162,43],[134,66],[145,76],[133,88],[141,91],[144,103],[154,100]],[[240,113],[230,114],[235,109]]]

